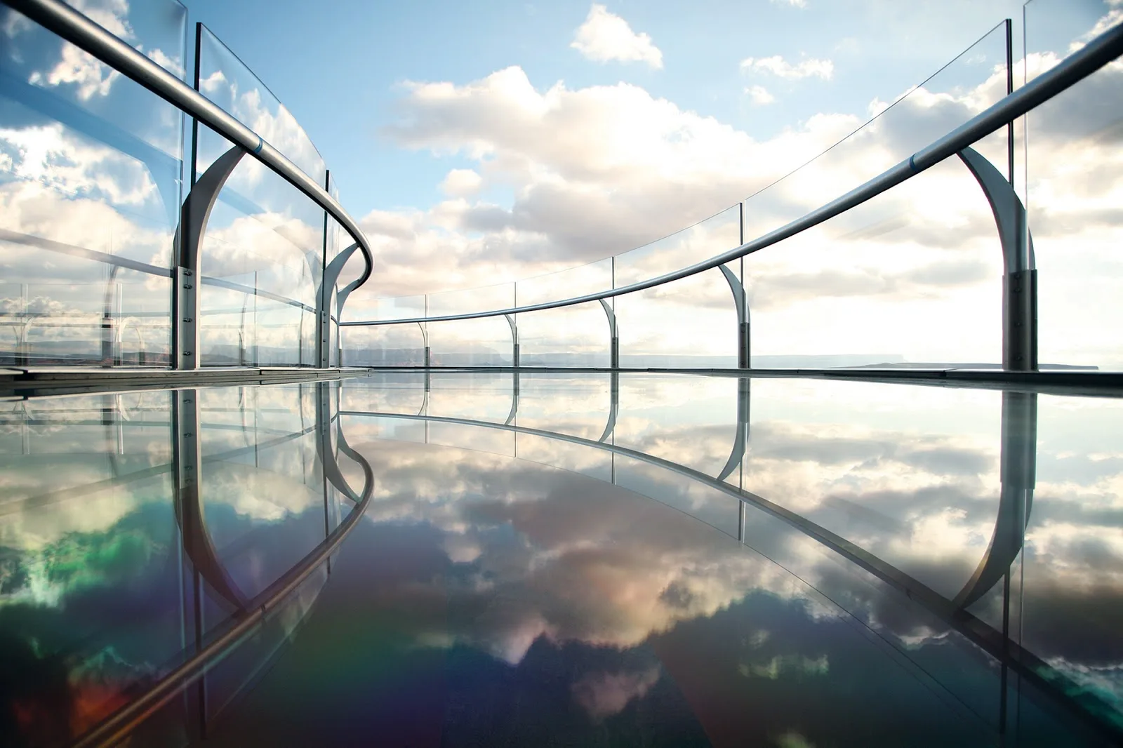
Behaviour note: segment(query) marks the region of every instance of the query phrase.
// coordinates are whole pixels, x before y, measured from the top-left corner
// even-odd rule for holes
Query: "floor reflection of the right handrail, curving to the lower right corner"
[[[410,416],[404,413],[367,412],[354,410],[340,410],[339,416],[367,417],[367,418],[392,418],[400,420],[417,420],[437,423],[455,423],[458,426],[473,426],[501,431],[512,431],[514,434],[526,434],[529,436],[544,437],[569,444],[594,447],[614,455],[621,455],[638,462],[661,467],[672,473],[676,473],[687,478],[705,484],[725,493],[742,504],[752,504],[767,514],[779,519],[784,523],[807,536],[815,542],[833,550],[848,562],[869,572],[875,577],[886,583],[888,586],[915,601],[922,608],[938,617],[941,621],[962,635],[968,641],[986,651],[990,657],[998,660],[1003,666],[1017,673],[1038,691],[1048,695],[1056,703],[1066,708],[1070,713],[1078,717],[1088,727],[1113,740],[1123,737],[1123,731],[1117,726],[1108,722],[1102,715],[1112,713],[1110,708],[1103,705],[1098,696],[1081,690],[1072,684],[1063,674],[1058,672],[1047,662],[1023,648],[1019,642],[1011,641],[1004,632],[995,630],[985,621],[976,618],[970,612],[964,610],[956,601],[948,600],[926,584],[906,574],[865,548],[850,542],[840,535],[837,535],[825,527],[811,521],[810,519],[780,505],[758,496],[749,491],[730,485],[715,480],[701,471],[696,471],[685,465],[655,457],[636,449],[621,447],[602,441],[593,441],[583,437],[568,434],[558,434],[544,429],[528,428],[524,426],[511,426],[508,423],[495,423],[492,421],[480,421],[467,418],[453,418],[442,416]],[[699,518],[695,518],[699,519]],[[705,522],[705,520],[699,519]],[[709,522],[706,522],[709,524]],[[711,524],[711,527],[713,527]],[[757,550],[765,555],[760,550]],[[989,554],[989,551],[988,551]],[[767,556],[766,556],[767,557]]]

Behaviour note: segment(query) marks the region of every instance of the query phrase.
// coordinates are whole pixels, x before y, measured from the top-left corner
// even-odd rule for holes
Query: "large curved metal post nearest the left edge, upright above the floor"
[[[234,146],[216,158],[191,188],[180,211],[173,245],[175,279],[172,283],[172,364],[175,368],[199,368],[199,252],[218,193],[245,155],[245,148]]]

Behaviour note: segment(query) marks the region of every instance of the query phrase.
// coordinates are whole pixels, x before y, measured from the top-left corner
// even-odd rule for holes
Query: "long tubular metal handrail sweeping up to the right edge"
[[[1072,53],[1069,57],[1059,63],[1056,67],[1042,73],[1032,82],[1025,84],[1014,93],[1006,95],[1001,101],[979,112],[961,126],[951,130],[947,135],[938,138],[924,148],[921,148],[912,156],[902,161],[896,166],[882,172],[868,182],[855,188],[850,192],[836,198],[834,200],[812,210],[794,221],[782,226],[768,234],[747,241],[739,247],[734,247],[709,259],[704,259],[693,265],[687,265],[681,270],[666,273],[646,281],[630,283],[605,291],[586,293],[579,297],[572,297],[558,301],[547,301],[526,307],[512,307],[509,309],[494,309],[483,312],[466,312],[463,314],[439,314],[435,317],[411,317],[393,320],[356,320],[339,322],[340,327],[372,327],[382,325],[403,325],[413,322],[442,322],[458,319],[480,319],[485,317],[500,317],[503,314],[517,314],[522,312],[541,311],[545,309],[557,309],[559,307],[570,307],[573,304],[610,299],[626,293],[643,291],[664,283],[678,281],[691,275],[696,275],[707,270],[724,265],[754,252],[759,252],[765,247],[788,239],[796,234],[819,226],[836,216],[839,216],[851,208],[876,198],[886,190],[912,179],[921,172],[939,164],[944,158],[958,154],[973,143],[994,133],[999,127],[1012,122],[1025,115],[1034,107],[1048,101],[1061,91],[1084,80],[1107,63],[1123,55],[1123,25],[1111,28],[1087,46]]]

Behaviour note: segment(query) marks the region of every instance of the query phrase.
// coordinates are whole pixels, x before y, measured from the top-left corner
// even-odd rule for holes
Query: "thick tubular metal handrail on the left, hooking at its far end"
[[[284,154],[266,143],[225,109],[207,99],[161,65],[137,52],[128,43],[74,10],[61,0],[0,0],[71,44],[90,53],[113,70],[133,79],[168,103],[194,117],[227,140],[241,146],[257,161],[284,177],[316,204],[326,210],[358,244],[366,259],[359,276],[362,285],[374,271],[371,243],[343,206],[317,184]]]

